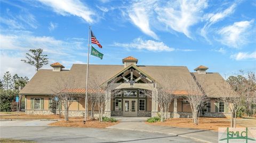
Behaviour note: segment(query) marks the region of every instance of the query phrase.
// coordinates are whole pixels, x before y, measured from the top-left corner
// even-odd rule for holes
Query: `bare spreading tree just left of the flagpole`
[[[75,99],[77,99],[78,102],[81,94],[79,94],[76,91],[77,88],[74,87],[77,83],[75,83],[73,77],[61,77],[60,79],[55,79],[55,82],[57,86],[55,86],[52,91],[54,92],[54,96],[59,98],[59,102],[64,107],[65,121],[68,121],[69,107]]]

